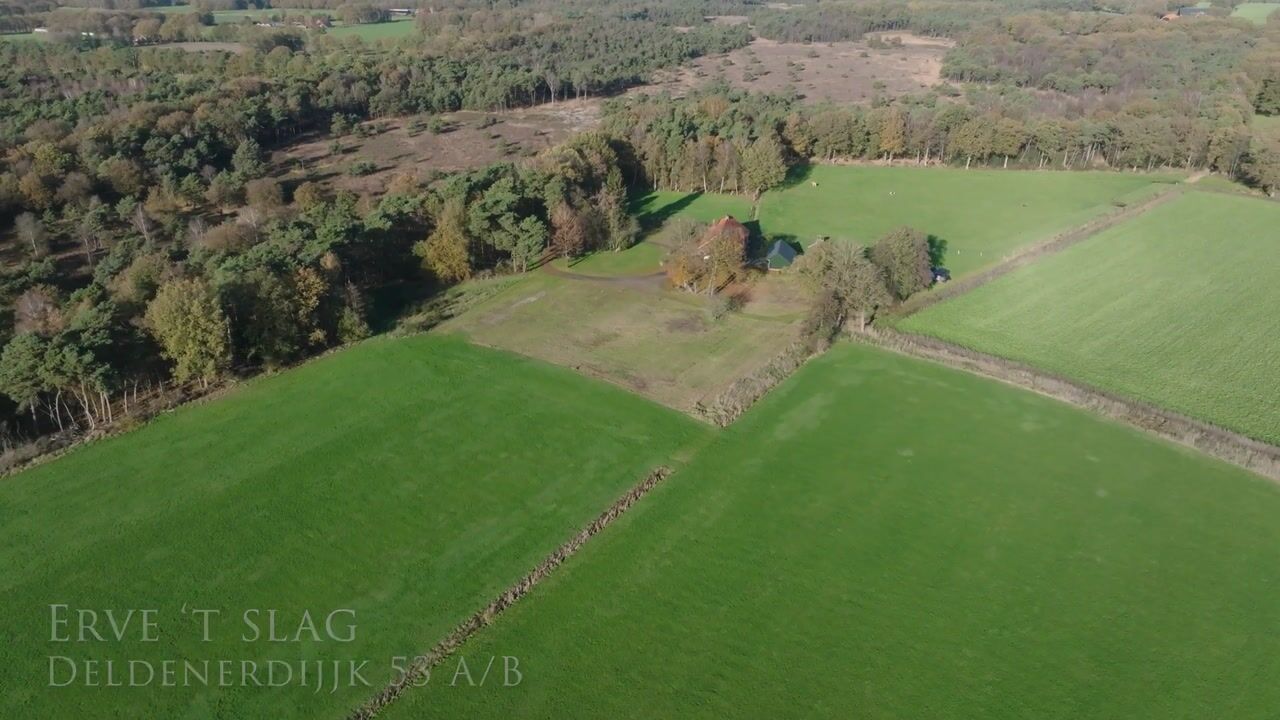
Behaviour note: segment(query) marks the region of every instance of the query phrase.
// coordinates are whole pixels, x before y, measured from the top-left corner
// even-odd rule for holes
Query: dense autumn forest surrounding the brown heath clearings
[[[365,8],[392,4],[271,6],[376,20]],[[1164,23],[1164,3],[456,0],[385,44],[212,26],[207,13],[234,3],[6,8],[5,31],[38,17],[68,41],[0,42],[5,442],[101,427],[161,382],[200,388],[364,337],[388,288],[626,247],[640,188],[755,197],[831,160],[1207,169],[1280,188],[1280,138],[1256,120],[1280,113],[1280,24]],[[308,133],[620,95],[748,44],[748,26],[705,19],[722,14],[815,51],[876,31],[955,47],[945,82],[864,106],[713,82],[614,97],[598,132],[520,163],[397,176],[375,197],[270,177],[269,151]],[[192,37],[243,51],[146,45]],[[850,302],[842,313],[860,313]]]

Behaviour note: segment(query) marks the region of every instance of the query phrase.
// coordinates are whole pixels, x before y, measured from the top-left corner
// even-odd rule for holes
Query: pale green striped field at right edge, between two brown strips
[[[902,329],[1280,443],[1280,205],[1188,193]]]

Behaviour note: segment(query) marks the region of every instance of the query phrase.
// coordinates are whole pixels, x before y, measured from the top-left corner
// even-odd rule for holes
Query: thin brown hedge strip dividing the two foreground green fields
[[[658,468],[650,470],[639,484],[628,489],[595,520],[591,520],[591,523],[579,530],[577,534],[556,548],[556,551],[539,562],[536,568],[530,570],[521,579],[516,580],[516,583],[503,591],[502,594],[492,600],[489,605],[485,605],[483,609],[462,621],[462,624],[454,628],[453,632],[444,635],[440,642],[435,643],[430,651],[419,656],[399,679],[389,683],[372,700],[365,702],[347,715],[348,720],[369,720],[376,716],[380,711],[385,710],[390,703],[396,702],[396,700],[399,698],[406,689],[411,688],[413,683],[424,676],[428,676],[433,667],[453,655],[472,635],[493,623],[499,615],[502,615],[503,611],[520,601],[520,598],[529,594],[529,592],[532,591],[538,583],[547,579],[547,577],[563,565],[566,560],[577,553],[577,551],[586,544],[586,541],[591,539],[599,534],[600,530],[609,527],[609,524],[617,520],[623,512],[630,510],[631,506],[639,502],[640,498],[648,495],[649,491],[655,488],[658,483],[671,477],[671,474],[672,469],[666,465],[659,465]]]

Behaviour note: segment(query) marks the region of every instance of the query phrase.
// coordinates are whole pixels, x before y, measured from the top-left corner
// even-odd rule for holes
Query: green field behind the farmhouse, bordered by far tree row
[[[911,225],[947,243],[945,264],[963,275],[1020,246],[1137,200],[1161,176],[815,165],[760,200],[760,229],[810,243],[818,236],[874,242]],[[817,182],[818,187],[812,183]],[[890,195],[892,192],[892,195]]]

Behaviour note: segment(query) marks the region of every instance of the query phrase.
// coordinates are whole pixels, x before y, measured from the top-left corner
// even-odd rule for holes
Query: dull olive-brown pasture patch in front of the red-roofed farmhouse
[[[716,318],[708,299],[664,284],[663,277],[586,279],[539,270],[443,328],[691,411],[781,354],[805,310],[801,300],[776,293],[762,301],[768,316],[748,302],[741,313]]]

